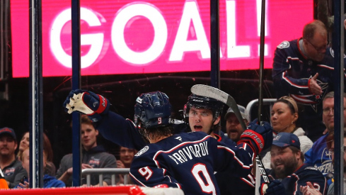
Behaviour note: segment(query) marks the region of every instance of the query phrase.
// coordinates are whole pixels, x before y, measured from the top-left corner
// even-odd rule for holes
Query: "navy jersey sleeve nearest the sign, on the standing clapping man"
[[[289,74],[292,64],[298,57],[290,57],[284,49],[277,48],[272,65],[272,79],[276,89],[285,90],[287,94],[311,94],[308,90],[308,79],[296,79]]]

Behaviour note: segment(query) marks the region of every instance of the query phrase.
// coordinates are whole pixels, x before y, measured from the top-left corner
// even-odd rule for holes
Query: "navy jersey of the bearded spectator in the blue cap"
[[[277,179],[272,172],[272,169],[267,169],[268,176],[270,180]],[[306,182],[311,182],[315,189],[321,192],[321,194],[326,194],[328,191],[327,179],[319,172],[315,167],[310,167],[306,164],[301,165],[299,169],[282,179],[282,184],[286,190],[285,195],[297,195],[302,194],[300,191],[300,186],[306,186]],[[261,179],[263,183],[263,179]]]

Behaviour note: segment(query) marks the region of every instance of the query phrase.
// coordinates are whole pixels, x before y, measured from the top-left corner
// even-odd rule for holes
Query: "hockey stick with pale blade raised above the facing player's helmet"
[[[232,96],[226,94],[224,91],[221,91],[220,89],[210,87],[204,84],[195,84],[191,87],[191,92],[192,94],[196,94],[197,96],[206,96],[209,98],[217,99],[218,101],[221,101],[230,108],[232,108],[234,114],[236,114],[236,117],[238,118],[239,123],[241,123],[241,127],[244,130],[246,130],[246,125],[243,121],[243,117],[241,116],[241,112],[239,111],[238,105],[236,104],[236,101],[233,99]],[[267,176],[267,172],[265,171],[265,167],[263,166],[263,162],[260,159],[259,155],[257,155],[256,157],[256,162],[258,168],[260,169],[260,174],[263,180],[266,184],[269,184],[270,180]]]

